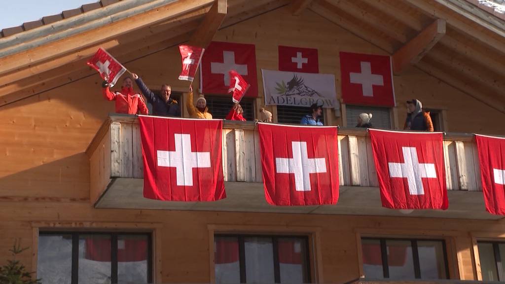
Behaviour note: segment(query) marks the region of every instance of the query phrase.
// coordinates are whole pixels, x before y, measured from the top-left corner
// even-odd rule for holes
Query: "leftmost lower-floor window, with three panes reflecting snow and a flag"
[[[150,283],[150,233],[40,232],[42,283]]]

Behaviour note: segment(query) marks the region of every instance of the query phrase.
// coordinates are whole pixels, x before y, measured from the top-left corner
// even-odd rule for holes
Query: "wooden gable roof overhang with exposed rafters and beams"
[[[218,29],[290,5],[391,54],[395,73],[413,64],[505,113],[505,20],[473,2],[103,0],[0,38],[0,107],[94,74],[85,61],[98,46],[128,63],[188,40],[205,46]]]

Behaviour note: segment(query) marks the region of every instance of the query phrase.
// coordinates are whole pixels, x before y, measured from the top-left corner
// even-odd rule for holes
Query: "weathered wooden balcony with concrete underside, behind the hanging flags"
[[[223,169],[228,198],[217,202],[164,202],[142,197],[143,165],[137,118],[111,115],[86,150],[90,159],[91,203],[95,208],[500,219],[484,209],[477,149],[471,134],[445,135],[449,209],[406,212],[381,207],[370,136],[365,129],[339,129],[340,199],[337,205],[279,207],[268,205],[264,198],[255,123],[225,121],[223,128]]]

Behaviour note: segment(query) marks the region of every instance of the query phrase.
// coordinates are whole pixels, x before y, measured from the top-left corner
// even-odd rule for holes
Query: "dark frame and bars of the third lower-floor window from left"
[[[382,260],[382,273],[384,279],[392,279],[389,278],[389,264],[387,260],[387,246],[386,246],[386,241],[410,241],[411,242],[411,247],[412,247],[412,258],[413,258],[413,265],[414,265],[414,275],[415,279],[421,279],[421,264],[419,261],[419,251],[418,251],[418,246],[417,242],[441,242],[442,243],[442,253],[443,253],[443,260],[444,260],[444,267],[445,267],[445,279],[450,279],[450,273],[449,273],[449,262],[448,262],[448,257],[447,257],[447,245],[445,244],[446,240],[444,239],[422,239],[422,238],[391,238],[391,237],[374,237],[374,236],[362,236],[360,240],[360,246],[363,246],[362,241],[363,240],[378,240],[380,242],[381,246],[381,260]],[[362,252],[361,252],[362,253]],[[362,263],[362,267],[363,267]],[[366,279],[365,275],[365,279]]]

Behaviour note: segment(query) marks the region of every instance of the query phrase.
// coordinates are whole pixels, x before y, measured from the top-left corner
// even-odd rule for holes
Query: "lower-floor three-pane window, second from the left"
[[[216,283],[309,283],[307,236],[215,235]]]

